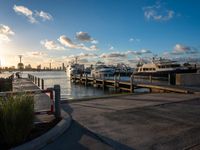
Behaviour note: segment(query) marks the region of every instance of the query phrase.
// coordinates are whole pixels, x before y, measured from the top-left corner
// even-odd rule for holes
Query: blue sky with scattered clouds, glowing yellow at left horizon
[[[200,61],[199,0],[0,0],[1,66]]]

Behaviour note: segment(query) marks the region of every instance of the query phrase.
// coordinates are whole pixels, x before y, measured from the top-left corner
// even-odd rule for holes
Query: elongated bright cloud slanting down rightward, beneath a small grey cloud
[[[96,45],[91,45],[90,47],[85,46],[84,44],[76,44],[73,43],[72,40],[68,37],[66,37],[65,35],[61,35],[58,39],[58,41],[68,47],[68,48],[72,48],[72,49],[82,49],[82,50],[87,50],[87,51],[95,51],[98,48],[96,47]]]

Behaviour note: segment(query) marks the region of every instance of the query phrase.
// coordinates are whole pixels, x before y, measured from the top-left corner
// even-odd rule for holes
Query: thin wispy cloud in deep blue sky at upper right
[[[148,20],[167,21],[174,17],[175,12],[173,10],[166,9],[160,3],[156,3],[153,6],[147,6],[143,8],[144,16]]]

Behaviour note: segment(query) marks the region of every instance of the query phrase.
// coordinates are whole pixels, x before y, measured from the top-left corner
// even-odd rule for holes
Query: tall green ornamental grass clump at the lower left
[[[22,143],[34,121],[34,98],[31,95],[0,98],[0,134],[9,146]]]

